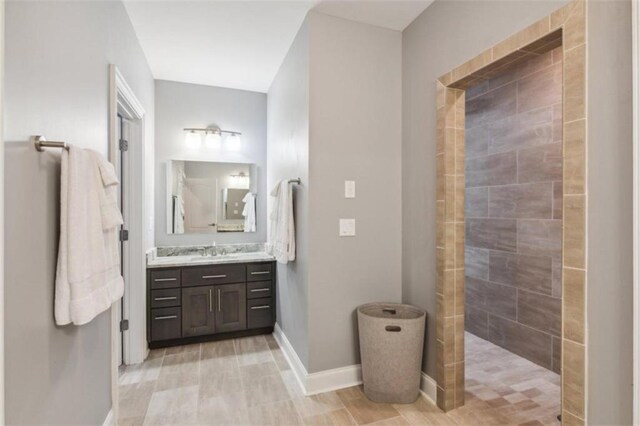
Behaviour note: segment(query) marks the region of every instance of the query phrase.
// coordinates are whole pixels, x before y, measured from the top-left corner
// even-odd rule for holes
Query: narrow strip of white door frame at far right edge
[[[640,424],[640,5],[633,20],[633,424]]]

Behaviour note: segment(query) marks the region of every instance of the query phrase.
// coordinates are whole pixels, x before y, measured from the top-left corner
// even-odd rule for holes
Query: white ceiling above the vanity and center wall
[[[124,0],[159,80],[266,92],[307,12],[402,31],[433,0]]]

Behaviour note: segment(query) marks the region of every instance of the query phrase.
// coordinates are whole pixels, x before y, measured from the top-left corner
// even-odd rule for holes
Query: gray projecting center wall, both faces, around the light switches
[[[310,373],[358,364],[356,307],[401,298],[400,53],[399,32],[311,12],[269,90],[269,187],[302,178],[278,324]]]

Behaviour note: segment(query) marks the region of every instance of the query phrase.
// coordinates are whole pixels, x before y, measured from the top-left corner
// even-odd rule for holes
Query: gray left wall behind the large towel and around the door
[[[37,28],[37,31],[34,31]],[[108,64],[119,66],[147,112],[153,79],[120,2],[6,4],[6,421],[102,424],[111,408],[110,314],[56,327],[53,289],[60,153],[42,134],[107,154]]]

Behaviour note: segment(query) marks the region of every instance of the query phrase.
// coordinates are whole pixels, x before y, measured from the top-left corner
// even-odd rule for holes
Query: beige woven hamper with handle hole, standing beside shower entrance
[[[410,404],[420,393],[425,312],[399,303],[358,307],[364,393],[372,401]]]

